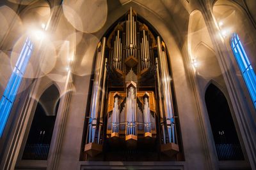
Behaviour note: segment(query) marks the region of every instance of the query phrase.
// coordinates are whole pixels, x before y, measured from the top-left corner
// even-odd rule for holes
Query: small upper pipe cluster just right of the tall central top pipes
[[[148,39],[145,35],[145,30],[143,29],[143,38],[140,43],[140,51],[141,51],[141,70],[149,67],[149,46]]]

